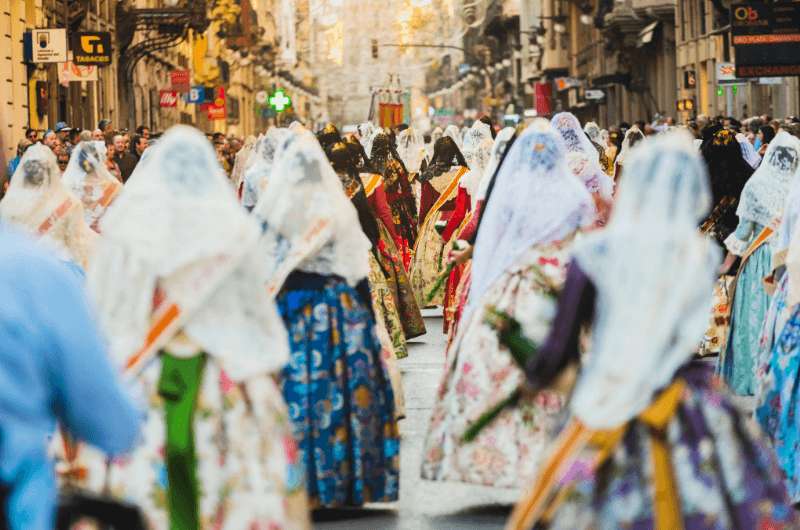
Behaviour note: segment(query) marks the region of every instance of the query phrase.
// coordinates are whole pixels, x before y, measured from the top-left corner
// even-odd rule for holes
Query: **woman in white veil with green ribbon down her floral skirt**
[[[151,149],[103,218],[88,273],[147,417],[136,449],[107,473],[90,465],[88,486],[135,503],[153,529],[307,529],[259,225],[202,133],[174,127]]]

